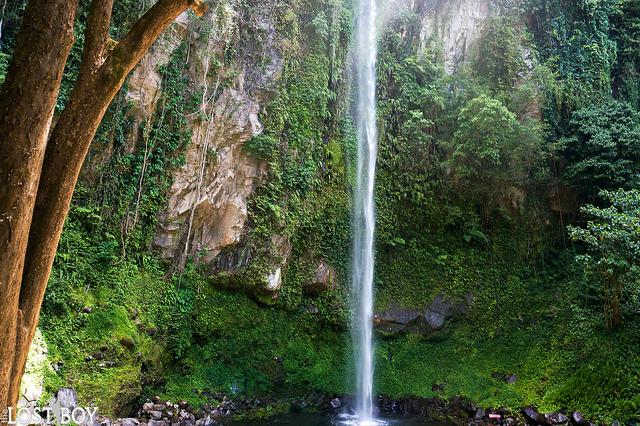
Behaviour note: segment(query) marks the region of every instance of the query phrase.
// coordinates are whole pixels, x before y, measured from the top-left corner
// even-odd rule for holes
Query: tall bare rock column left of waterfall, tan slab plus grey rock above
[[[212,57],[224,52],[234,34],[242,6],[229,2],[222,23],[211,11],[208,18],[214,29],[207,36],[193,34],[190,74],[205,88],[205,95],[200,114],[191,121],[186,163],[174,173],[154,239],[165,258],[183,260],[198,254],[200,261],[209,262],[237,244],[246,231],[247,200],[263,182],[266,164],[247,155],[243,145],[262,133],[258,114],[282,69],[275,17],[266,13],[270,2],[264,3],[265,13],[251,21],[262,43],[243,44],[246,50],[239,52],[235,77],[224,67],[217,73],[208,71]]]

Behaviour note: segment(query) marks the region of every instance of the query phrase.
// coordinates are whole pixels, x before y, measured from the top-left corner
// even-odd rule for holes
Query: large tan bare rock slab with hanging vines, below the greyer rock
[[[238,243],[247,199],[264,178],[265,164],[242,152],[244,142],[262,132],[259,104],[226,89],[214,108],[214,121],[194,123],[186,164],[169,190],[154,240],[166,258],[200,253],[210,261]]]

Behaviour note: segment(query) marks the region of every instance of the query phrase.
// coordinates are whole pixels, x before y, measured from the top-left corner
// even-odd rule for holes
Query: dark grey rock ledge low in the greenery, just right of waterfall
[[[376,328],[385,333],[430,335],[444,328],[447,320],[466,314],[472,299],[472,295],[469,294],[463,303],[456,303],[444,295],[439,295],[423,309],[392,306],[387,311],[377,313],[374,321]]]

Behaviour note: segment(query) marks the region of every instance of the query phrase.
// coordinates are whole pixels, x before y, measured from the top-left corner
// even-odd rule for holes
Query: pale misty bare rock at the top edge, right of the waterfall
[[[469,54],[482,33],[482,24],[496,15],[489,0],[437,0],[425,6],[420,39],[442,42],[445,69],[451,74]]]

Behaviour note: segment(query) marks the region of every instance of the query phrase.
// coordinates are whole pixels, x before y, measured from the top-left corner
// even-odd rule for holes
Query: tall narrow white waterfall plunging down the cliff
[[[376,129],[376,4],[359,0],[357,21],[358,166],[354,201],[353,294],[359,424],[373,420],[373,265]]]

